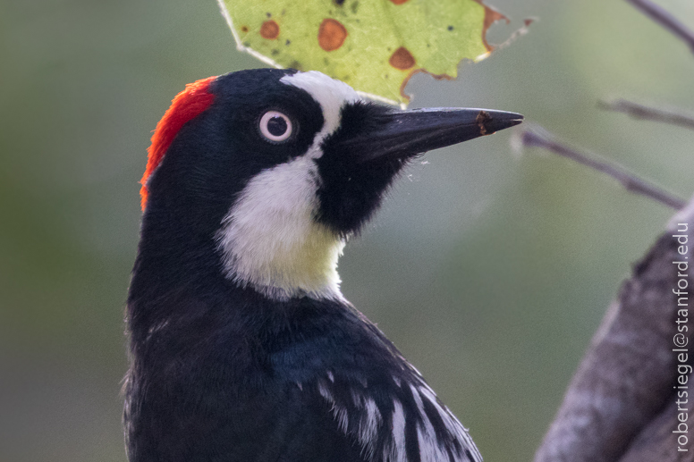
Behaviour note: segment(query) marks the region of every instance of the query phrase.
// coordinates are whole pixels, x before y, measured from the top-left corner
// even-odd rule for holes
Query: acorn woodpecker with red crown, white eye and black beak
[[[142,179],[130,461],[481,460],[418,370],[343,298],[336,267],[404,165],[521,120],[398,111],[317,71],[187,86]]]

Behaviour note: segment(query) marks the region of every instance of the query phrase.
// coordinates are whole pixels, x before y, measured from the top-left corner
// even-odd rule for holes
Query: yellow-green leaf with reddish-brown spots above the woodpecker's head
[[[218,1],[241,51],[401,105],[414,73],[454,79],[461,60],[487,57],[487,29],[505,19],[481,0]]]

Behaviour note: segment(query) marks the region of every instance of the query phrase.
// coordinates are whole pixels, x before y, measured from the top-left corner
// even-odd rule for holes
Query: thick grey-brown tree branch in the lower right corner
[[[694,211],[694,201],[684,210]],[[673,234],[691,237],[694,214],[678,215],[675,228],[656,241],[647,256],[634,265],[631,278],[622,283],[537,450],[535,462],[694,459],[694,438],[680,441],[680,434],[673,433],[681,412],[677,410],[680,401],[675,386],[682,374],[685,379],[691,377],[686,368],[680,368],[681,360],[673,351],[673,335],[682,316],[685,325],[688,320],[687,306],[682,307],[679,296],[673,293],[681,279],[678,271],[683,268],[673,262],[689,261],[685,258],[691,259],[691,253],[681,255],[681,241]],[[685,227],[688,231],[681,231]],[[691,273],[686,273],[684,281],[691,287]],[[687,305],[690,299],[685,300]],[[688,409],[690,402],[685,403]]]

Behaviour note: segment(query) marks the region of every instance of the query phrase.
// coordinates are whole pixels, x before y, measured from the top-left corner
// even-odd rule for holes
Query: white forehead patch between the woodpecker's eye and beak
[[[284,84],[292,85],[292,87],[301,88],[309,93],[320,105],[320,108],[323,110],[323,118],[325,119],[323,130],[320,130],[318,133],[318,135],[321,135],[321,141],[340,126],[340,111],[343,105],[355,103],[361,99],[357,92],[354,91],[354,88],[318,71],[297,72],[285,75],[280,81]]]

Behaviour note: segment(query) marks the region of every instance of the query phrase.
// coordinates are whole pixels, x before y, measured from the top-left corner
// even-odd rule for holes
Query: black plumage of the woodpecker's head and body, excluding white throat
[[[341,296],[299,290],[273,298],[229,277],[219,248],[224,217],[260,172],[316,147],[326,124],[316,97],[281,81],[294,72],[241,71],[214,80],[214,102],[182,126],[148,178],[127,307],[128,457],[480,460],[419,372]],[[263,139],[258,120],[267,111],[286,114],[289,139]],[[420,136],[415,147],[388,144],[394,110],[353,101],[340,114],[339,127],[319,140],[310,217],[338,240],[359,231],[402,166],[426,150],[421,143],[458,142],[446,131],[429,141]],[[486,132],[469,115],[465,139]],[[374,152],[382,155],[365,155],[368,137],[379,139]]]

